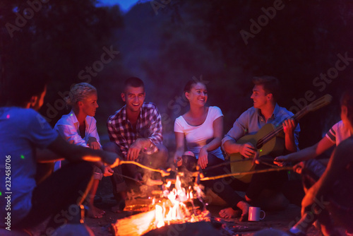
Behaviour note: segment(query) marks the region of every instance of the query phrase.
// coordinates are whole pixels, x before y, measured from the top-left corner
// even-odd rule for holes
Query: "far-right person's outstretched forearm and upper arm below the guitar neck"
[[[313,146],[310,146],[308,148],[304,148],[303,150],[296,152],[296,153],[290,153],[288,155],[281,155],[277,158],[275,158],[275,161],[277,162],[283,162],[283,161],[292,161],[292,162],[300,162],[303,160],[309,160],[316,158],[318,155],[321,155],[323,152],[328,150],[328,148],[332,147],[335,145],[330,139],[328,139],[326,136],[321,139],[318,143],[316,143]]]

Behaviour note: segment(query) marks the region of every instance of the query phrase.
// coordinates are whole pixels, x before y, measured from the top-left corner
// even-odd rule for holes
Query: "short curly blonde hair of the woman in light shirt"
[[[97,89],[93,85],[89,83],[76,83],[65,98],[66,105],[75,107],[78,101],[84,100],[93,92],[97,93]]]

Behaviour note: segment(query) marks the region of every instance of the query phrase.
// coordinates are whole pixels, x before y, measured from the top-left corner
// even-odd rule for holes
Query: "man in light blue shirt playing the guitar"
[[[261,76],[253,78],[253,93],[251,99],[253,100],[253,107],[246,110],[234,122],[232,129],[222,139],[222,148],[227,155],[234,153],[241,154],[243,158],[251,158],[256,152],[261,155],[261,148],[254,146],[252,143],[239,143],[239,138],[246,134],[255,134],[265,124],[273,124],[273,126],[283,126],[282,136],[284,136],[285,153],[292,153],[298,151],[298,136],[299,124],[296,126],[292,112],[289,112],[284,107],[277,105],[277,92],[279,91],[279,82],[273,76]],[[283,134],[284,132],[284,134]],[[279,135],[281,135],[281,133]],[[241,163],[234,163],[234,165],[241,165]],[[267,168],[267,165],[256,165],[255,170]],[[234,179],[236,182],[239,179]],[[240,179],[241,180],[241,179]],[[253,175],[249,184],[247,185],[246,201],[252,203],[253,200],[258,200],[263,189],[270,189],[277,192],[282,187],[282,184],[287,180],[286,172],[267,172]],[[243,181],[244,182],[244,181]],[[246,181],[245,181],[246,182]],[[239,185],[244,183],[240,183]],[[277,195],[278,196],[278,195]],[[282,196],[284,198],[284,196]],[[277,199],[277,198],[276,198]],[[264,200],[264,199],[263,199]],[[286,200],[287,201],[287,200]],[[225,216],[231,216],[231,209],[222,210]]]

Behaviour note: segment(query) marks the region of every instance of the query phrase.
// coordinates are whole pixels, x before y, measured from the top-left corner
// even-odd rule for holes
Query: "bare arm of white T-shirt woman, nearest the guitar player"
[[[223,117],[213,121],[213,140],[203,146],[198,154],[198,165],[205,169],[208,164],[208,152],[220,147],[223,136]]]

